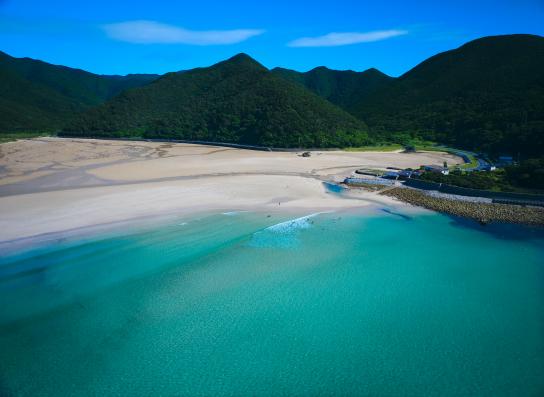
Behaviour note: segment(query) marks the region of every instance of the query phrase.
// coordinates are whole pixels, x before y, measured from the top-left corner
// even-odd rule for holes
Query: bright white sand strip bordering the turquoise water
[[[177,183],[58,190],[0,198],[0,250],[16,240],[83,228],[191,214],[252,211],[305,214],[405,207],[375,193],[343,197],[299,176],[236,176]],[[225,186],[227,184],[228,186]],[[285,188],[285,185],[297,185]],[[287,192],[276,192],[283,188]]]

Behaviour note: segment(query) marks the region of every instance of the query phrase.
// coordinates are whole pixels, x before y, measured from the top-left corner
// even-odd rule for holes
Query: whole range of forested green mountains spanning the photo
[[[376,69],[269,71],[243,54],[159,79],[98,76],[0,53],[0,134],[60,130],[278,147],[423,139],[538,158],[544,38],[481,38],[399,78]]]

